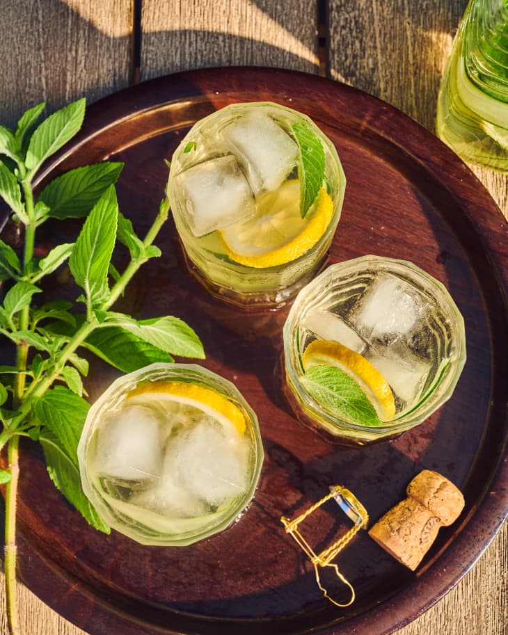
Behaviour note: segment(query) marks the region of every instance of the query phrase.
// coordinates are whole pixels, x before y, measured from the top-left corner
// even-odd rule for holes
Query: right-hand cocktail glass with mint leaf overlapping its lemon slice
[[[300,291],[284,325],[285,394],[296,417],[353,444],[422,423],[450,398],[465,361],[450,294],[403,260],[329,266]]]

